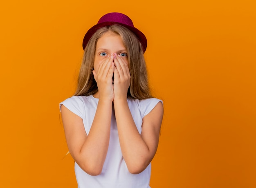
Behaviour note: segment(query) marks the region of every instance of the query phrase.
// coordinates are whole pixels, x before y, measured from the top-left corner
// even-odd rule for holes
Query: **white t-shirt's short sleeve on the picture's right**
[[[158,98],[148,98],[148,99],[141,100],[139,102],[141,117],[144,118],[147,114],[149,114],[151,110],[153,110],[153,108],[159,102],[163,103],[163,101]]]

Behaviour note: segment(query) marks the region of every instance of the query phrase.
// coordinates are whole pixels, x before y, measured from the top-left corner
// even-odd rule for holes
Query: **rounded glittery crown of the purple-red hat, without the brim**
[[[128,16],[118,12],[107,13],[104,16],[102,16],[99,19],[98,24],[103,22],[117,22],[117,23],[128,25],[130,27],[134,27],[132,20]]]

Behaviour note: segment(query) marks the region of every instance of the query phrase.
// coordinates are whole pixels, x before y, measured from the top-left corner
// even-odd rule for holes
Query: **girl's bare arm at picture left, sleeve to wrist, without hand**
[[[61,106],[61,116],[67,146],[76,163],[88,174],[101,173],[110,138],[112,102],[99,101],[89,134],[84,129],[83,120]]]

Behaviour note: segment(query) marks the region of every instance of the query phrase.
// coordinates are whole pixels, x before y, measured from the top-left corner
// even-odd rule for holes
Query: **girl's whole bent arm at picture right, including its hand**
[[[159,141],[163,106],[159,102],[143,118],[139,134],[127,103],[130,72],[124,59],[115,54],[114,58],[114,107],[121,151],[130,173],[142,172],[153,159]]]

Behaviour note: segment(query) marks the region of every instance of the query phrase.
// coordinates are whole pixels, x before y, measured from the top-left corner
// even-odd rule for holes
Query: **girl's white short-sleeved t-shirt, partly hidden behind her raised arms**
[[[141,134],[142,119],[155,105],[161,100],[157,98],[148,98],[144,100],[128,98],[127,102],[132,114],[133,120]],[[85,132],[90,132],[92,121],[97,109],[99,99],[90,96],[72,96],[60,103],[63,104],[74,114],[83,119]],[[162,101],[161,101],[162,102]],[[117,122],[115,114],[112,113],[110,141],[108,153],[100,175],[91,176],[84,172],[77,163],[75,163],[75,173],[78,188],[150,188],[151,163],[139,174],[131,174],[128,171],[124,161],[117,133]]]

